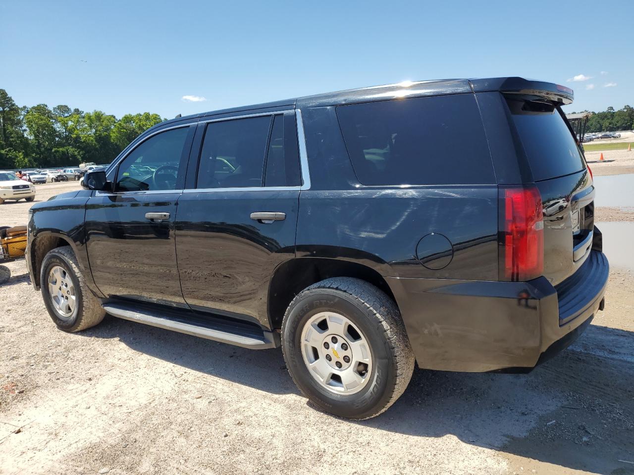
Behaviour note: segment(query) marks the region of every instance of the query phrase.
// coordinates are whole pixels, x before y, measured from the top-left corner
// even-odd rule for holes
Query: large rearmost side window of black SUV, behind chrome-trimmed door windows
[[[473,94],[337,107],[364,185],[495,184]]]

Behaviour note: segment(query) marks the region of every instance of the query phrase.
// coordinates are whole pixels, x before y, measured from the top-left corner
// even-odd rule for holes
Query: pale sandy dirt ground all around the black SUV
[[[37,186],[36,201],[77,186]],[[0,206],[0,225],[30,205]],[[417,370],[394,407],[351,422],[307,403],[280,350],[113,317],[58,331],[24,262],[8,267],[1,474],[634,474],[630,270],[611,269],[605,311],[530,374]]]

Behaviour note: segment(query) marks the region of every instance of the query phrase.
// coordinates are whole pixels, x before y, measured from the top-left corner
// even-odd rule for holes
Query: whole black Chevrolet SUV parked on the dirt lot
[[[353,419],[415,361],[529,371],[604,305],[572,100],[458,79],[169,120],[31,208],[30,277],[64,331],[108,313],[281,346],[302,392]]]

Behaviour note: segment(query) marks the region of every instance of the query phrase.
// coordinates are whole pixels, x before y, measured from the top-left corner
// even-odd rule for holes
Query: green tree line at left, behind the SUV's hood
[[[163,120],[149,112],[117,119],[67,105],[18,106],[0,89],[0,169],[110,163],[136,136]]]

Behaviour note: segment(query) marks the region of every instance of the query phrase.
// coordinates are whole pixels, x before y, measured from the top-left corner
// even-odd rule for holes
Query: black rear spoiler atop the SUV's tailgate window
[[[522,77],[495,77],[491,79],[470,79],[471,89],[474,92],[500,91],[505,94],[522,94],[522,96],[535,96],[535,98],[547,99],[557,105],[566,105],[573,102],[574,93],[569,87],[552,82],[542,82]]]

